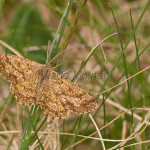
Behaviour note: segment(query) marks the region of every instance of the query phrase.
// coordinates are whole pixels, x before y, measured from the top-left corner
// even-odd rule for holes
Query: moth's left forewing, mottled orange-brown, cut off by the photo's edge
[[[23,57],[0,53],[0,74],[13,84],[27,80],[41,66]]]

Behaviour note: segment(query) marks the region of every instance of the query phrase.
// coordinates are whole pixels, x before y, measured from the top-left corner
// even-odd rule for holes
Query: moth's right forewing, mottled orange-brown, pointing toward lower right
[[[70,81],[63,79],[61,75],[52,69],[49,72],[47,94],[49,94],[49,97],[52,97],[53,93],[59,105],[63,106],[68,112],[72,111],[82,114],[90,112],[97,107],[97,103],[94,99],[82,89],[76,87]]]

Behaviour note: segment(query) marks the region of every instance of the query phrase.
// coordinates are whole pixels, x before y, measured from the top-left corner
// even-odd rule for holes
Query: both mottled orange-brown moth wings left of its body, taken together
[[[36,104],[38,70],[41,66],[23,57],[0,53],[0,73],[11,82],[10,89],[17,101],[25,105]]]

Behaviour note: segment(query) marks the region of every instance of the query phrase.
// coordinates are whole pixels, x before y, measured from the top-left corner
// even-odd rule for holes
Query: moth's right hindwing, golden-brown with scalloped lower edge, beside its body
[[[43,81],[41,80],[38,93],[37,103],[45,115],[51,119],[67,117],[68,111],[60,102],[59,95],[57,95],[55,89],[52,87],[51,81],[49,81],[49,74],[47,74],[47,77]]]

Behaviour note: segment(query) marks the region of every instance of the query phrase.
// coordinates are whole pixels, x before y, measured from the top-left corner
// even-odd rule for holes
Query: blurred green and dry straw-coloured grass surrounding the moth
[[[7,43],[44,64],[50,40],[50,58],[65,49],[52,64],[61,62],[57,72],[67,72],[72,82],[74,71],[99,75],[75,83],[94,97],[97,110],[59,121],[37,106],[18,105],[0,76],[0,149],[150,149],[149,4],[0,0],[1,52],[14,54]]]

